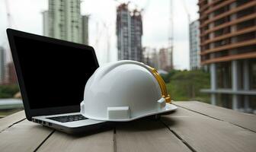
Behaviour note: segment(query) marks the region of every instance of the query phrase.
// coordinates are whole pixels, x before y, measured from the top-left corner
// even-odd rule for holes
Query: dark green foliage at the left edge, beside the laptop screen
[[[18,93],[18,85],[0,85],[0,98],[11,98]]]

